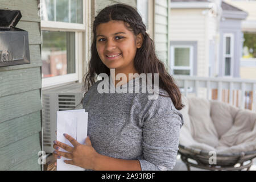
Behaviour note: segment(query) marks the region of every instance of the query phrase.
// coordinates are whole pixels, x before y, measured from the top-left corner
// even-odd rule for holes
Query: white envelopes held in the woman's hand
[[[63,136],[65,133],[71,135],[77,142],[84,144],[87,137],[87,122],[88,113],[84,109],[57,111],[57,140],[73,147]],[[63,148],[60,148],[60,151],[67,152]],[[57,159],[57,171],[84,171],[81,167],[64,163],[64,160],[70,159],[63,156],[61,159]]]

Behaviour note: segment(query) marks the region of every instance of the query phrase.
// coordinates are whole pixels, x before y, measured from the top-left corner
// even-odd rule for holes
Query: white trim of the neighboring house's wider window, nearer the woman
[[[189,67],[183,67],[183,66],[175,66],[175,60],[174,60],[174,49],[175,48],[189,48]],[[174,69],[176,70],[189,70],[190,76],[193,76],[193,46],[188,45],[180,45],[180,46],[171,46],[171,73],[174,75]]]

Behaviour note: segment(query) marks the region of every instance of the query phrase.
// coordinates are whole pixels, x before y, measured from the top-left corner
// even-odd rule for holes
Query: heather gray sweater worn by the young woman
[[[128,90],[131,82],[133,87],[138,86],[138,78],[120,88]],[[183,117],[171,98],[159,96],[149,100],[149,93],[142,92],[98,93],[100,82],[92,85],[83,100],[94,149],[112,158],[137,159],[142,170],[171,170],[176,163],[183,125]],[[109,89],[110,86],[112,81]],[[167,95],[160,88],[159,93]]]

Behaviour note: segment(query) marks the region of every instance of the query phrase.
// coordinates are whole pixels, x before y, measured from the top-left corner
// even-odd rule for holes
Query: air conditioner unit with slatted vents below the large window
[[[53,140],[56,140],[57,111],[82,109],[82,85],[72,84],[59,88],[43,90],[43,150],[54,151]]]

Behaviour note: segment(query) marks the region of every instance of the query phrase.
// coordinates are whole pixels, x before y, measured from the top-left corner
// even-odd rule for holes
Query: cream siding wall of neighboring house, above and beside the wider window
[[[209,39],[214,39],[216,22],[203,9],[171,9],[170,40],[197,42],[197,73],[209,75]]]

